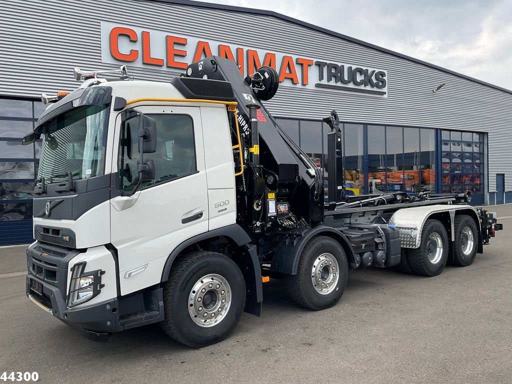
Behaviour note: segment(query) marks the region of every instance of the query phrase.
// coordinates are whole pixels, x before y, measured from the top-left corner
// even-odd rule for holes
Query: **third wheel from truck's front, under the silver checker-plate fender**
[[[407,248],[407,262],[412,271],[423,276],[437,276],[448,259],[448,235],[438,220],[427,220],[418,248]]]

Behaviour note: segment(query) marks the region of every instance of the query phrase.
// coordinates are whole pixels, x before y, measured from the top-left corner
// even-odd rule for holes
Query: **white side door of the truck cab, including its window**
[[[139,116],[121,121],[112,169],[111,242],[118,250],[121,294],[160,282],[169,253],[181,242],[208,230],[208,190],[199,108],[139,106],[156,121],[157,150],[144,154],[155,163],[156,177],[138,181]],[[114,150],[114,153],[116,151]],[[136,273],[133,273],[136,272]]]

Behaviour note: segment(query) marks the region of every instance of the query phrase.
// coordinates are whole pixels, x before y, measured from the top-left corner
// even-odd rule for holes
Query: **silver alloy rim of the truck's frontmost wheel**
[[[231,287],[220,274],[210,273],[199,279],[188,295],[188,313],[197,325],[219,324],[231,307]]]

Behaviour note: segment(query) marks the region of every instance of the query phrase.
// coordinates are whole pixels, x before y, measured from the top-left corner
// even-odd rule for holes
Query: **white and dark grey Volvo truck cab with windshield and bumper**
[[[50,104],[37,123],[44,140],[27,292],[53,315],[108,333],[124,315],[159,321],[162,292],[152,287],[170,253],[236,224],[227,111],[236,102],[189,101],[164,82],[95,82]],[[153,173],[142,181],[141,157]],[[118,296],[130,296],[129,309]]]

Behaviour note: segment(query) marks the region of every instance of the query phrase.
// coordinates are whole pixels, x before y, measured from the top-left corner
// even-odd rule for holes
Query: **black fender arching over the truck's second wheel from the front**
[[[302,233],[302,237],[298,239],[287,239],[289,241],[285,241],[279,245],[274,251],[270,271],[296,275],[302,251],[314,236],[327,236],[335,240],[345,251],[349,266],[351,263],[355,263],[354,250],[343,233],[335,228],[320,225],[315,228],[305,230]]]

